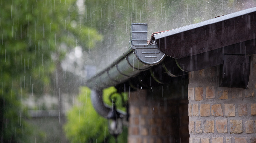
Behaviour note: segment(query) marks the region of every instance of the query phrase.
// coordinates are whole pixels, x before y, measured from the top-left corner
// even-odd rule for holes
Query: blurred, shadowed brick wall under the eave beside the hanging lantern
[[[129,97],[128,143],[187,143],[188,100],[153,99],[147,90]]]

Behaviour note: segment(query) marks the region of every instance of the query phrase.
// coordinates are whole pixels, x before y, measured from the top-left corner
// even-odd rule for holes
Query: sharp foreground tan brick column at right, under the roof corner
[[[190,72],[189,143],[256,143],[256,56],[246,89],[218,82],[219,66]]]

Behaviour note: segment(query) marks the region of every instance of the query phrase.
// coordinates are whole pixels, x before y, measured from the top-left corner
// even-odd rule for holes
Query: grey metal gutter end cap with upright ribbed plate
[[[131,25],[131,48],[136,58],[147,65],[160,63],[165,53],[160,51],[157,45],[147,44],[148,25],[144,23],[132,23]]]

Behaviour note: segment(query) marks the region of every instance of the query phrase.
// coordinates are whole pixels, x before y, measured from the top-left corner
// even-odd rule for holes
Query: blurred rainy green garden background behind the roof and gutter
[[[0,142],[114,142],[84,81],[86,69],[101,71],[130,47],[131,23],[147,23],[150,40],[153,32],[255,6],[253,0],[1,0]],[[127,129],[118,141],[127,142]]]

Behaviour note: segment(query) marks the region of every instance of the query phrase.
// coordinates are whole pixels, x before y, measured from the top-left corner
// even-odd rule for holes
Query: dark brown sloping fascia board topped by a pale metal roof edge
[[[255,39],[254,33],[256,33],[256,7],[153,36],[161,51],[180,59]]]

